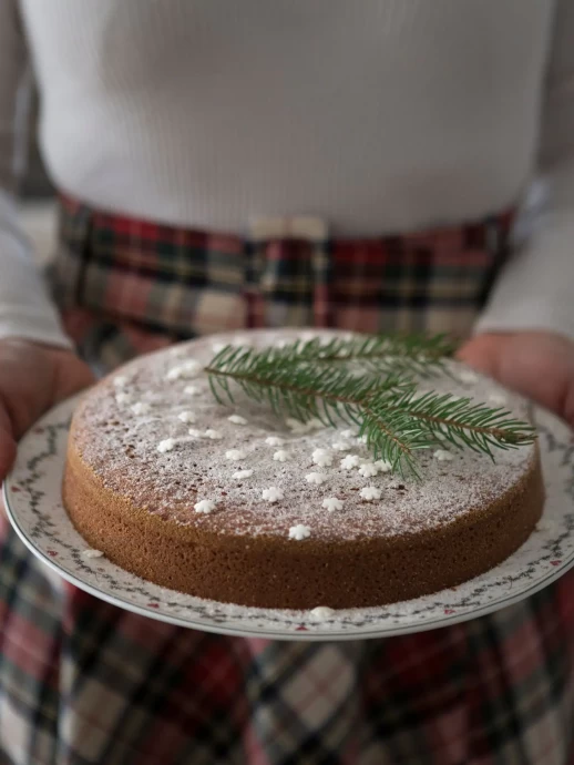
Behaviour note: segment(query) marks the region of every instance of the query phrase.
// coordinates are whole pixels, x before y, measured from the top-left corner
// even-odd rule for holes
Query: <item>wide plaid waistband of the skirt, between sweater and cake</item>
[[[464,334],[508,252],[512,212],[460,226],[336,238],[316,218],[245,237],[61,198],[57,299],[177,337],[248,327]]]

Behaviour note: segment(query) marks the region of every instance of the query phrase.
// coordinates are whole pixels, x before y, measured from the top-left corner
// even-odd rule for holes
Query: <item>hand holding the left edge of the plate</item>
[[[90,368],[70,350],[28,340],[0,340],[0,483],[25,430],[50,407],[93,379]]]

